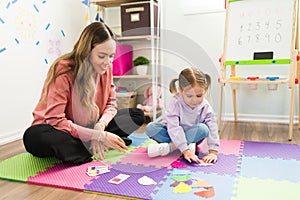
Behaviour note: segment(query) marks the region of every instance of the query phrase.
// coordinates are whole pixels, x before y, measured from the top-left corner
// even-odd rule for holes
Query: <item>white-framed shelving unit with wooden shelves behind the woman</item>
[[[121,4],[125,3],[133,3],[133,2],[145,2],[145,1],[137,1],[137,0],[90,0],[90,4],[96,4],[98,6],[97,10],[101,10],[102,13],[106,12],[106,9],[112,7],[120,7]],[[162,69],[159,67],[160,62],[160,1],[149,0],[147,1],[150,3],[150,34],[149,35],[138,35],[138,36],[117,36],[117,41],[124,44],[130,44],[133,46],[133,57],[137,56],[145,56],[135,55],[138,54],[139,47],[145,47],[142,51],[144,53],[147,52],[148,55],[146,57],[150,58],[150,71],[151,74],[147,75],[135,75],[135,74],[128,74],[123,76],[114,76],[114,80],[116,85],[124,86],[126,83],[128,85],[134,85],[135,91],[138,92],[138,97],[142,96],[142,89],[145,89],[147,85],[152,85],[153,90],[153,111],[152,112],[145,112],[146,116],[149,116],[151,120],[158,121],[161,119],[161,111],[157,109],[157,85],[161,84],[160,74],[162,73]],[[154,29],[154,3],[157,4],[158,7],[158,14],[157,14],[157,28]],[[105,20],[105,17],[102,16],[102,19]],[[110,26],[110,24],[108,24]],[[115,24],[114,27],[118,27]],[[110,26],[111,27],[111,26]],[[119,27],[118,27],[119,28]],[[156,31],[156,32],[155,32]],[[135,48],[135,46],[139,46]],[[133,58],[134,59],[134,58]],[[134,84],[133,84],[134,83]],[[138,99],[137,103],[142,103],[143,98]]]

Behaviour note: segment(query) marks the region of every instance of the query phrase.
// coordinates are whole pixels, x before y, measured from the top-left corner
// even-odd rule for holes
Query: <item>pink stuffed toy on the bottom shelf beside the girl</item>
[[[152,94],[152,85],[148,86],[145,91],[144,91],[144,97],[145,101],[142,104],[137,104],[137,108],[146,111],[146,112],[151,112],[153,110],[153,94]],[[161,100],[161,87],[157,86],[157,109],[162,108],[162,100]]]

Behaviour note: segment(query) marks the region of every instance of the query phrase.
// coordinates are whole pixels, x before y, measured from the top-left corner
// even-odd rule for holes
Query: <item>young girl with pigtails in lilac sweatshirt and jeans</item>
[[[170,92],[174,97],[167,108],[165,121],[151,122],[146,126],[146,134],[158,142],[148,146],[149,157],[165,156],[179,149],[189,162],[217,161],[218,127],[214,111],[204,98],[210,84],[210,76],[197,68],[186,68],[178,79],[171,80]],[[208,146],[208,154],[202,160],[195,154],[195,143],[198,147]]]

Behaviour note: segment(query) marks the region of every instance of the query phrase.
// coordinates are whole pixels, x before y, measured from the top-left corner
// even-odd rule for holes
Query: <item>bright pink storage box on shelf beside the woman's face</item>
[[[112,65],[114,76],[132,74],[132,46],[129,44],[117,44]]]

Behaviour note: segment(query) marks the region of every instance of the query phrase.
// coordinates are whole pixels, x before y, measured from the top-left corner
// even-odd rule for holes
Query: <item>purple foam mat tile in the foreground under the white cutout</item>
[[[122,171],[111,169],[109,173],[102,174],[99,177],[92,180],[90,184],[84,186],[85,190],[93,192],[101,192],[107,194],[114,194],[119,196],[127,196],[141,199],[151,199],[150,194],[157,187],[157,185],[141,185],[138,183],[138,179],[143,176],[152,178],[156,183],[164,180],[167,175],[167,168],[162,168],[153,172],[147,173],[123,173]],[[119,174],[130,175],[128,179],[120,184],[109,183],[108,181]]]

